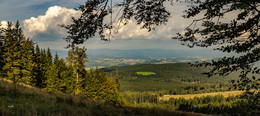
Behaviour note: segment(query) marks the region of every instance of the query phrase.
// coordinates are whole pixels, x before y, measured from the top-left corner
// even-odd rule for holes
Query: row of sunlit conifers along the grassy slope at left
[[[66,59],[26,39],[19,22],[0,28],[0,77],[92,100],[123,104],[117,76],[109,78],[98,69],[87,71],[86,48],[73,46]]]

